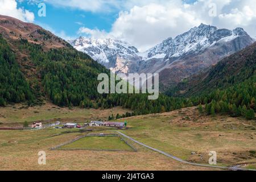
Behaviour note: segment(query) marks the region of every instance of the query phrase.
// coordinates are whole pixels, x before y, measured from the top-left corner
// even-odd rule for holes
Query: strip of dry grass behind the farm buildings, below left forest
[[[16,104],[14,106],[0,107],[0,122],[8,126],[20,126],[24,121],[63,121],[63,122],[85,122],[94,119],[108,119],[109,115],[124,114],[131,112],[129,109],[114,107],[112,109],[81,109],[80,107],[58,107],[53,104],[26,107]],[[3,124],[0,127],[3,127]]]

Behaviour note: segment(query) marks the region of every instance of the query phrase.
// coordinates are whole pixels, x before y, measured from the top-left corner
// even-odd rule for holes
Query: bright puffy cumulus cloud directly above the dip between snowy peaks
[[[130,11],[119,13],[111,34],[145,50],[161,40],[205,23],[195,12],[185,9],[187,7],[181,1],[134,6]]]

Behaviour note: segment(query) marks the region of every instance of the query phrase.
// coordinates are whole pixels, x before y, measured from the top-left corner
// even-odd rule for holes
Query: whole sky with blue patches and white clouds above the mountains
[[[46,17],[38,5],[46,4]],[[125,40],[141,51],[200,23],[256,36],[255,0],[0,0],[0,14],[39,24],[64,39]]]

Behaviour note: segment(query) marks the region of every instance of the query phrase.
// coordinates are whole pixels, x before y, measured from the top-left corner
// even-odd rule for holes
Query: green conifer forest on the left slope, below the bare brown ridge
[[[29,75],[26,73],[25,76],[28,76],[26,81],[20,71],[23,68],[19,68],[17,61],[15,61],[15,53],[11,51],[6,41],[2,39],[2,51],[9,52],[10,55],[7,57],[13,59],[15,71],[19,73],[19,77],[24,82],[21,82],[18,79],[19,77],[15,76],[13,81],[1,86],[3,90],[14,87],[16,92],[22,92],[20,93],[21,96],[15,94],[12,96],[13,99],[9,100],[6,97],[8,94],[2,91],[2,105],[24,101],[27,101],[28,104],[33,104],[38,99],[42,101],[49,99],[53,104],[59,106],[94,107],[96,109],[123,106],[133,109],[134,114],[159,113],[192,106],[188,100],[167,97],[162,94],[155,101],[148,100],[147,94],[99,94],[97,92],[99,83],[97,76],[99,73],[110,74],[110,71],[90,59],[85,53],[76,51],[71,47],[45,51],[42,45],[29,43],[26,39],[16,40],[13,45],[18,47],[19,53],[28,53],[27,62],[33,65],[35,69],[32,69],[32,66],[27,64],[26,69],[36,72],[34,75],[38,75],[38,77],[36,77],[35,81],[35,77],[29,77],[31,73]],[[8,51],[6,51],[6,48],[8,48]],[[6,56],[2,55],[2,59],[4,57]],[[2,59],[1,64],[4,64],[5,62]],[[9,74],[6,73],[5,78],[9,78]],[[18,89],[22,85],[26,87]],[[22,90],[24,90],[24,93]]]

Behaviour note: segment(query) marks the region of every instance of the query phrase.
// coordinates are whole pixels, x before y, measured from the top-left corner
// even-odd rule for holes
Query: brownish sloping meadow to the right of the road
[[[127,135],[190,162],[206,164],[209,151],[216,151],[220,165],[256,168],[256,155],[251,153],[256,151],[255,121],[210,117],[199,114],[196,107],[126,120]]]

